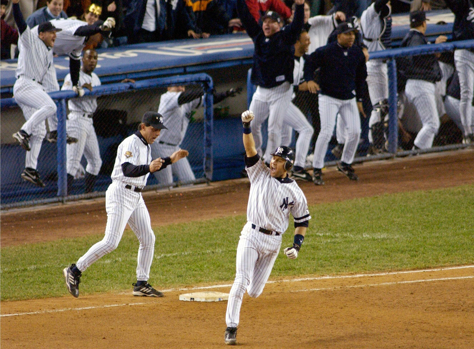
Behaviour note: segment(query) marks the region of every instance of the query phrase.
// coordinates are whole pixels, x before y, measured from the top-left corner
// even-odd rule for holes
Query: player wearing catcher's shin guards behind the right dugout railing
[[[390,0],[376,0],[362,13],[360,26],[364,44],[369,52],[385,50],[392,45],[390,39],[392,33],[391,12]],[[373,106],[369,119],[369,153],[375,155],[380,152],[380,142],[374,146],[373,133],[381,133],[383,118],[388,113],[386,107],[388,99],[387,63],[384,63],[382,59],[372,59],[367,62],[367,84]],[[384,143],[383,141],[382,144]]]

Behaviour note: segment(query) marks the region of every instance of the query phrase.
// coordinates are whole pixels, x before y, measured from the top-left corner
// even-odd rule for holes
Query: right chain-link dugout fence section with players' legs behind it
[[[469,71],[474,70],[473,51],[474,40],[465,40],[371,52],[366,64],[367,85],[362,89],[365,115],[360,113],[361,135],[355,162],[472,146],[474,76]],[[255,88],[249,71],[248,105]],[[306,168],[313,167],[320,131],[318,100],[319,93],[294,87],[292,103],[314,129]],[[287,112],[285,118],[290,114]],[[340,161],[345,143],[342,119],[337,114],[326,165]],[[294,130],[292,135],[290,147],[295,149],[299,135]]]

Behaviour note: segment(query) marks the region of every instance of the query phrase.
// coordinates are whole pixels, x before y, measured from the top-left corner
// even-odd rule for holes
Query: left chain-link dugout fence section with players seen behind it
[[[171,86],[170,92],[168,87]],[[178,87],[179,86],[179,87]],[[180,93],[187,91],[188,100],[178,101]],[[174,92],[176,90],[176,92]],[[66,116],[71,114],[67,100],[74,96],[71,91],[51,93],[57,104],[58,140],[41,144],[37,158],[37,173],[44,187],[38,182],[25,180],[26,152],[18,144],[1,146],[1,208],[12,208],[30,204],[58,202],[103,196],[111,183],[118,145],[126,137],[137,131],[146,111],[160,111],[165,116],[165,130],[173,136],[156,141],[152,145],[152,156],[170,156],[178,148],[189,151],[187,159],[180,160],[179,166],[173,164],[169,173],[150,174],[146,189],[157,189],[181,184],[192,184],[212,179],[212,129],[213,129],[213,83],[207,74],[191,74],[169,78],[142,80],[136,83],[117,83],[95,87],[87,95],[98,96],[97,110],[93,114],[80,117],[84,121],[76,129],[68,124],[68,136],[81,138],[79,147],[80,163],[73,163],[73,151],[66,146]],[[181,94],[183,94],[182,92]],[[166,94],[166,95],[165,95]],[[165,96],[164,96],[165,95]],[[164,102],[161,103],[162,96]],[[174,98],[174,99],[173,99]],[[202,108],[204,106],[204,108]],[[2,114],[22,113],[14,99],[1,100]],[[22,114],[21,114],[22,115]],[[168,118],[167,118],[167,117]],[[92,119],[95,137],[82,132]],[[171,126],[170,126],[171,125]],[[83,139],[82,139],[83,138]],[[77,144],[79,144],[78,142]],[[98,144],[99,153],[95,154],[94,144]],[[76,150],[77,150],[76,146]],[[69,156],[69,159],[68,159]],[[98,158],[100,156],[100,158]],[[176,163],[178,164],[178,163]],[[94,168],[95,167],[95,168]],[[22,175],[23,174],[23,175]],[[87,192],[87,176],[97,174],[92,191]],[[68,181],[68,176],[69,181]],[[74,177],[73,180],[71,180]],[[86,177],[86,178],[85,178]],[[68,183],[69,182],[69,183]],[[90,191],[89,187],[89,191]]]

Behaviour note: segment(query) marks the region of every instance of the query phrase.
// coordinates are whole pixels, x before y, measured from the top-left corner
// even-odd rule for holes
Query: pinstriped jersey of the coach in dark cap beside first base
[[[143,143],[137,135],[125,138],[118,146],[117,157],[115,158],[114,170],[112,171],[112,181],[128,183],[137,187],[144,187],[150,173],[140,177],[126,177],[122,172],[122,164],[129,162],[132,165],[150,165],[151,149],[150,145]]]

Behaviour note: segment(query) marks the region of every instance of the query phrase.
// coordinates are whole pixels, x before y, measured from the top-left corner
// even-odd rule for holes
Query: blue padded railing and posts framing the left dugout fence
[[[85,90],[84,95],[102,96],[107,94],[116,94],[119,92],[128,92],[154,87],[165,87],[171,85],[184,85],[190,83],[199,83],[204,89],[204,177],[206,180],[212,180],[212,130],[213,130],[213,95],[214,88],[212,78],[206,73],[188,74],[170,76],[165,78],[155,78],[149,80],[137,81],[136,83],[113,83],[94,87],[92,91]],[[58,91],[49,93],[57,105],[58,118],[58,139],[57,139],[57,172],[58,172],[58,192],[57,198],[53,200],[45,199],[46,202],[65,201],[67,197],[67,173],[66,173],[66,100],[77,97],[72,91]],[[14,98],[4,98],[0,100],[1,108],[15,106],[17,103]],[[36,203],[43,202],[37,200]]]

